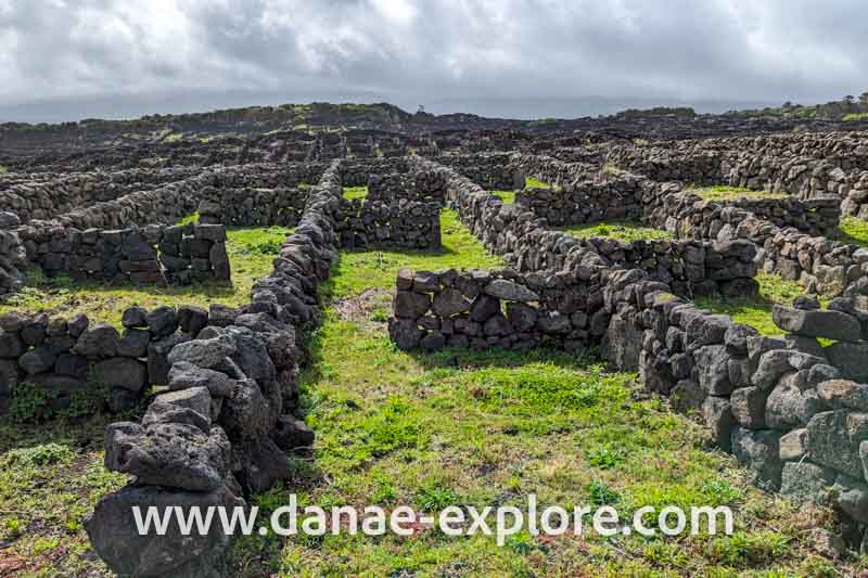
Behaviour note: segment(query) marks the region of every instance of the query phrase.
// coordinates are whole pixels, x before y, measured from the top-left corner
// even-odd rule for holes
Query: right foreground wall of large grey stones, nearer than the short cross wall
[[[760,486],[802,502],[824,501],[831,487],[845,538],[868,543],[868,292],[828,310],[814,299],[776,306],[781,337],[703,311],[641,271],[616,272],[604,293],[610,362],[699,412]]]

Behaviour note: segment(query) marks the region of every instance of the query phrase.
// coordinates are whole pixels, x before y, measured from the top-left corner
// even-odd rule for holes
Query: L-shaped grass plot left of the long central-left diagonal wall
[[[148,309],[161,305],[207,308],[212,303],[237,307],[250,303],[253,282],[271,271],[280,244],[290,232],[291,229],[282,227],[229,229],[226,249],[232,267],[231,283],[174,287],[112,285],[66,277],[49,279],[34,269],[28,271],[27,282],[17,294],[0,299],[0,313],[25,310],[71,317],[81,312],[91,320],[119,326],[120,314],[132,305]]]

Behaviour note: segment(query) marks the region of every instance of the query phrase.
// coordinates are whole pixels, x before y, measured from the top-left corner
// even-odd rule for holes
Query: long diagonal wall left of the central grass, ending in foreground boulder
[[[107,468],[136,483],[103,497],[86,528],[97,553],[118,574],[231,576],[234,539],[140,536],[131,508],[245,505],[245,496],[290,475],[284,451],[304,450],[312,433],[293,418],[297,402],[296,334],[319,320],[319,283],[337,258],[342,187],[337,163],[312,187],[273,271],[255,282],[251,303],[219,308],[195,338],[167,350],[169,391],[141,423],[108,426]]]

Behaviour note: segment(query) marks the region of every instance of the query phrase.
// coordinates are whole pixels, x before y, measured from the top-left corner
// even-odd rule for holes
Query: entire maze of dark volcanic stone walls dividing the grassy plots
[[[314,442],[298,373],[320,285],[341,251],[438,251],[444,208],[508,267],[401,269],[388,320],[398,348],[599,350],[698,415],[761,487],[806,502],[831,490],[842,537],[868,551],[868,248],[831,239],[842,217],[868,219],[868,136],[500,137],[420,138],[416,154],[398,138],[320,134],[304,153],[254,139],[234,156],[177,151],[173,168],[118,168],[105,153],[94,163],[107,170],[75,159],[62,171],[48,158],[51,171],[0,175],[0,294],[34,268],[111,284],[228,282],[227,227],[294,228],[240,308],[135,307],[119,329],[0,317],[0,414],[25,386],[59,409],[94,387],[112,412],[146,403],[105,435],[105,466],[133,476],[87,523],[110,568],[229,575],[230,537],[138,536],[130,506],[245,504],[286,480],[288,454]],[[528,177],[547,187],[525,187]],[[710,201],[705,185],[776,195]],[[367,194],[347,198],[345,187]],[[178,224],[194,213],[196,223]],[[556,230],[607,220],[673,239]],[[780,336],[693,303],[754,296],[760,271],[805,290],[774,306]]]

